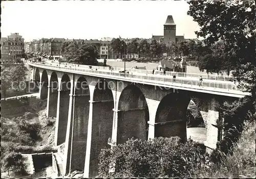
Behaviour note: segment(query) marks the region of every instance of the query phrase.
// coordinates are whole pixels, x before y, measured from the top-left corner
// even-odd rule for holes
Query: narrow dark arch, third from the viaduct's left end
[[[57,103],[58,103],[58,77],[55,72],[52,72],[49,83],[49,117],[56,118]]]

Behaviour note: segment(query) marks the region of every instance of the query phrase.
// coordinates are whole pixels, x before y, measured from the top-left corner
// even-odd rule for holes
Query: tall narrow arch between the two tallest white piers
[[[90,90],[88,81],[83,76],[79,77],[75,83],[74,95],[71,172],[74,170],[83,171],[86,159]]]

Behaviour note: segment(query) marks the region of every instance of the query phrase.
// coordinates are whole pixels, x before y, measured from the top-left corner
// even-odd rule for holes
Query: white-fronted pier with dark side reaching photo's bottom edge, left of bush
[[[89,101],[89,121],[86,160],[83,177],[98,175],[98,155],[103,148],[110,148],[108,138],[112,135],[113,100]]]

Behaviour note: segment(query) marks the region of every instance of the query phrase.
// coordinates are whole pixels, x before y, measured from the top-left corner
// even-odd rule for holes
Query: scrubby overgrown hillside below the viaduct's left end
[[[6,101],[8,102],[8,101]],[[10,101],[9,101],[10,102]],[[1,171],[25,174],[21,153],[56,151],[51,145],[54,121],[47,119],[46,100],[30,98],[22,117],[1,118]],[[5,105],[8,106],[7,104]],[[12,115],[11,115],[12,116]]]

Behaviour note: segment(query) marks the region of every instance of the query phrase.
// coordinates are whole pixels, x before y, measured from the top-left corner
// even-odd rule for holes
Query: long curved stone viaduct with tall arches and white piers
[[[186,111],[192,99],[203,117],[206,148],[214,149],[224,100],[249,95],[228,82],[191,78],[173,81],[147,74],[126,74],[84,67],[63,67],[29,62],[40,98],[48,99],[47,116],[56,118],[55,143],[65,143],[63,170],[98,175],[100,149],[129,138],[186,138]],[[109,145],[111,144],[111,145]]]

